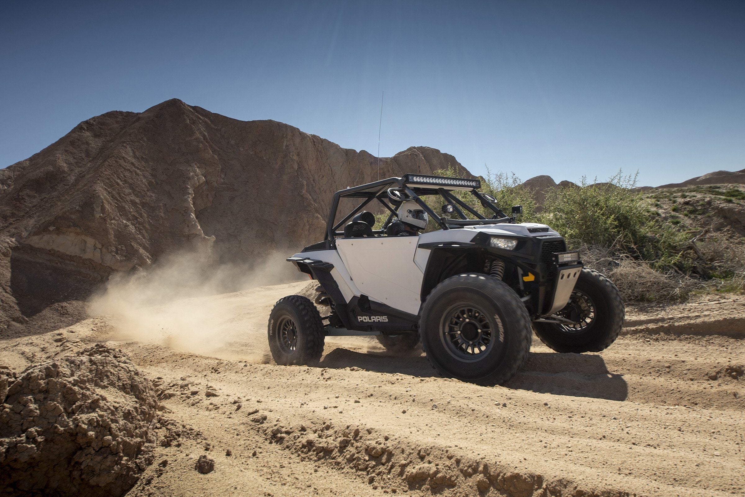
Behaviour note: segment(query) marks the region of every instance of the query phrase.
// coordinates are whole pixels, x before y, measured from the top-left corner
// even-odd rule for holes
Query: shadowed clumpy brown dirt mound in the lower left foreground
[[[123,352],[0,371],[1,495],[121,496],[152,462],[156,393]]]

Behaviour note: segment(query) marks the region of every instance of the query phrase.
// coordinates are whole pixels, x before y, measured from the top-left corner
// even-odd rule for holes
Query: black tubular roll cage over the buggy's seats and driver
[[[390,214],[388,215],[387,220],[384,222],[381,229],[375,229],[373,230],[373,234],[375,235],[384,235],[386,227],[390,224],[390,222],[393,220],[394,217],[398,215],[398,212],[396,212],[396,208],[401,205],[404,201],[413,200],[419,206],[424,209],[424,211],[430,216],[430,218],[434,219],[435,222],[437,222],[438,225],[442,229],[452,229],[452,228],[458,228],[463,226],[473,226],[477,224],[486,224],[485,221],[488,221],[488,224],[500,224],[500,223],[508,223],[513,222],[513,218],[508,217],[504,214],[504,212],[499,209],[498,206],[496,206],[494,203],[486,199],[484,197],[484,194],[482,194],[480,191],[478,191],[478,186],[475,188],[463,188],[463,187],[449,187],[448,186],[413,186],[412,182],[407,181],[408,176],[416,176],[414,174],[406,174],[404,177],[390,177],[386,178],[385,180],[378,180],[374,181],[373,183],[367,183],[360,186],[353,186],[352,188],[344,189],[337,191],[334,194],[334,200],[332,202],[331,206],[331,212],[329,212],[329,219],[326,222],[326,235],[324,236],[324,240],[330,240],[333,244],[336,236],[343,236],[343,231],[337,231],[340,227],[343,226],[347,221],[352,219],[352,217],[360,212],[362,209],[364,209],[367,204],[372,202],[373,200],[378,200],[388,211],[390,211]],[[457,180],[458,178],[448,178],[448,177],[429,177],[429,178],[438,178],[442,180]],[[480,184],[480,183],[479,183]],[[388,189],[390,188],[396,188],[399,190],[402,190],[406,195],[408,195],[408,198],[401,201],[396,201],[390,198],[388,195]],[[476,197],[482,206],[486,207],[487,209],[494,212],[494,216],[491,219],[486,219],[484,215],[481,215],[478,211],[475,209],[472,209],[471,206],[469,206],[467,203],[463,202],[463,200],[460,200],[457,196],[451,194],[451,191],[459,190],[459,191],[469,191],[474,197]],[[440,197],[443,197],[443,200],[446,201],[446,203],[449,203],[453,206],[454,212],[460,217],[460,220],[457,219],[447,219],[442,218],[440,215],[437,215],[430,206],[425,203],[424,200],[422,200],[419,196],[420,195],[440,195]],[[361,198],[364,199],[362,202],[355,207],[355,209],[352,209],[352,212],[349,212],[344,218],[339,221],[337,224],[334,224],[334,220],[336,218],[336,212],[339,208],[339,200],[341,198]],[[469,219],[466,217],[466,213],[463,211],[469,212],[471,215],[474,215],[476,217],[475,220]]]

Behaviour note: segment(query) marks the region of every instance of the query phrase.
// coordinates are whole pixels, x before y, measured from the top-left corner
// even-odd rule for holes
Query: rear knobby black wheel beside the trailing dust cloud
[[[269,349],[277,364],[316,364],[326,335],[318,309],[305,297],[277,300],[269,314]]]

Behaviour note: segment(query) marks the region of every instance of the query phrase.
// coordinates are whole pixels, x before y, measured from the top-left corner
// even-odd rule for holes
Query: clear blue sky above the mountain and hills
[[[641,184],[745,168],[744,1],[0,3],[0,166],[180,98],[381,156]]]

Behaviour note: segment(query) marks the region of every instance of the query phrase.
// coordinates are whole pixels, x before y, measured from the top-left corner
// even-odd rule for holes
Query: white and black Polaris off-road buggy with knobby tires
[[[559,233],[516,223],[519,206],[509,217],[479,188],[475,179],[405,174],[337,191],[324,240],[288,259],[317,280],[315,304],[328,315],[299,295],[279,300],[268,328],[276,363],[319,361],[326,336],[371,335],[398,352],[421,341],[442,376],[491,385],[522,367],[533,330],[557,352],[612,344],[624,321],[615,285],[583,268]],[[444,201],[442,213],[425,198]],[[361,203],[340,217],[342,199]],[[389,212],[379,229],[362,210],[373,202]],[[440,229],[419,234],[430,219]]]

